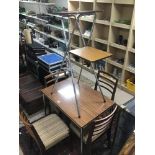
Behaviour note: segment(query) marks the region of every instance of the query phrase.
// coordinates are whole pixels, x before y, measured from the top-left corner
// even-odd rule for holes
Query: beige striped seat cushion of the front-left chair
[[[69,136],[69,128],[56,115],[50,114],[33,123],[46,150]]]

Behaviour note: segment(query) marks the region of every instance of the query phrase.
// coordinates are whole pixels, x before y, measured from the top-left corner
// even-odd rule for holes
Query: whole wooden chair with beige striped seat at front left
[[[45,116],[34,123],[29,122],[22,110],[19,117],[39,147],[41,155],[45,155],[48,149],[69,136],[69,128],[56,114]]]

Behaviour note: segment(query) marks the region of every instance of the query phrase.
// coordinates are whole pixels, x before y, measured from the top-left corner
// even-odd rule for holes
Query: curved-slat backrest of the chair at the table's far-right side
[[[100,87],[110,92],[111,100],[114,100],[118,79],[113,75],[100,70],[98,71],[97,79]],[[97,90],[97,87],[98,87],[98,84],[96,81],[94,89]]]

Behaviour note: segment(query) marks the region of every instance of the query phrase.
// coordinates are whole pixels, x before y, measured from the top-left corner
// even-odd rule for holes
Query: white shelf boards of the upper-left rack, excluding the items
[[[55,3],[53,3],[53,0],[51,0],[51,2],[48,2],[48,3],[36,2],[36,1],[19,1],[19,6],[24,7],[25,11],[31,10],[31,11],[34,11],[36,13],[43,13],[43,14],[46,14],[48,16],[54,16],[55,18],[60,19],[61,23],[62,23],[62,17],[61,16],[52,15],[52,14],[47,13],[47,8],[49,8],[51,6],[54,6],[54,5],[55,5]],[[52,29],[52,30],[58,30],[58,31],[61,31],[63,33],[62,24],[61,24],[61,26],[52,25],[52,24],[49,24],[47,20],[38,18],[37,16],[28,15],[26,12],[19,13],[19,15],[23,15],[28,19],[33,19],[34,20],[34,23],[31,23],[31,22],[24,23],[24,22],[19,21],[20,25],[28,27],[28,28],[33,28],[33,30],[35,31],[35,34],[36,34],[35,35],[36,38],[34,38],[33,41],[35,41],[35,42],[39,43],[40,45],[44,46],[47,52],[55,52],[55,53],[57,53],[57,54],[59,54],[61,56],[64,56],[64,51],[62,49],[60,49],[60,48],[50,48],[47,45],[45,45],[44,43],[40,42],[38,38],[40,36],[42,36],[43,38],[52,38],[55,41],[63,43],[64,46],[65,46],[65,40],[61,39],[61,38],[58,38],[57,36],[55,36],[53,34],[48,34],[46,32],[40,31],[35,27],[35,24],[42,24],[44,26],[50,27],[50,29]],[[68,20],[68,18],[65,18],[65,20]],[[68,28],[65,28],[65,32],[66,33],[69,32]]]

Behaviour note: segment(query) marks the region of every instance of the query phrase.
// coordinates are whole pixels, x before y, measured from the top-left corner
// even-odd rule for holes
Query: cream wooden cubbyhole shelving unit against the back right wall
[[[134,5],[134,0],[68,0],[69,11],[103,10],[103,13],[97,13],[91,46],[113,54],[105,60],[105,71],[118,77],[119,87],[131,94],[134,93],[127,89],[126,80],[135,75],[132,67],[135,62]],[[73,23],[70,19],[69,29]],[[83,33],[88,23],[92,23],[91,16],[80,19]],[[81,46],[81,39],[75,32],[71,47]],[[80,62],[74,63],[80,65]],[[89,70],[89,67],[85,69]]]

